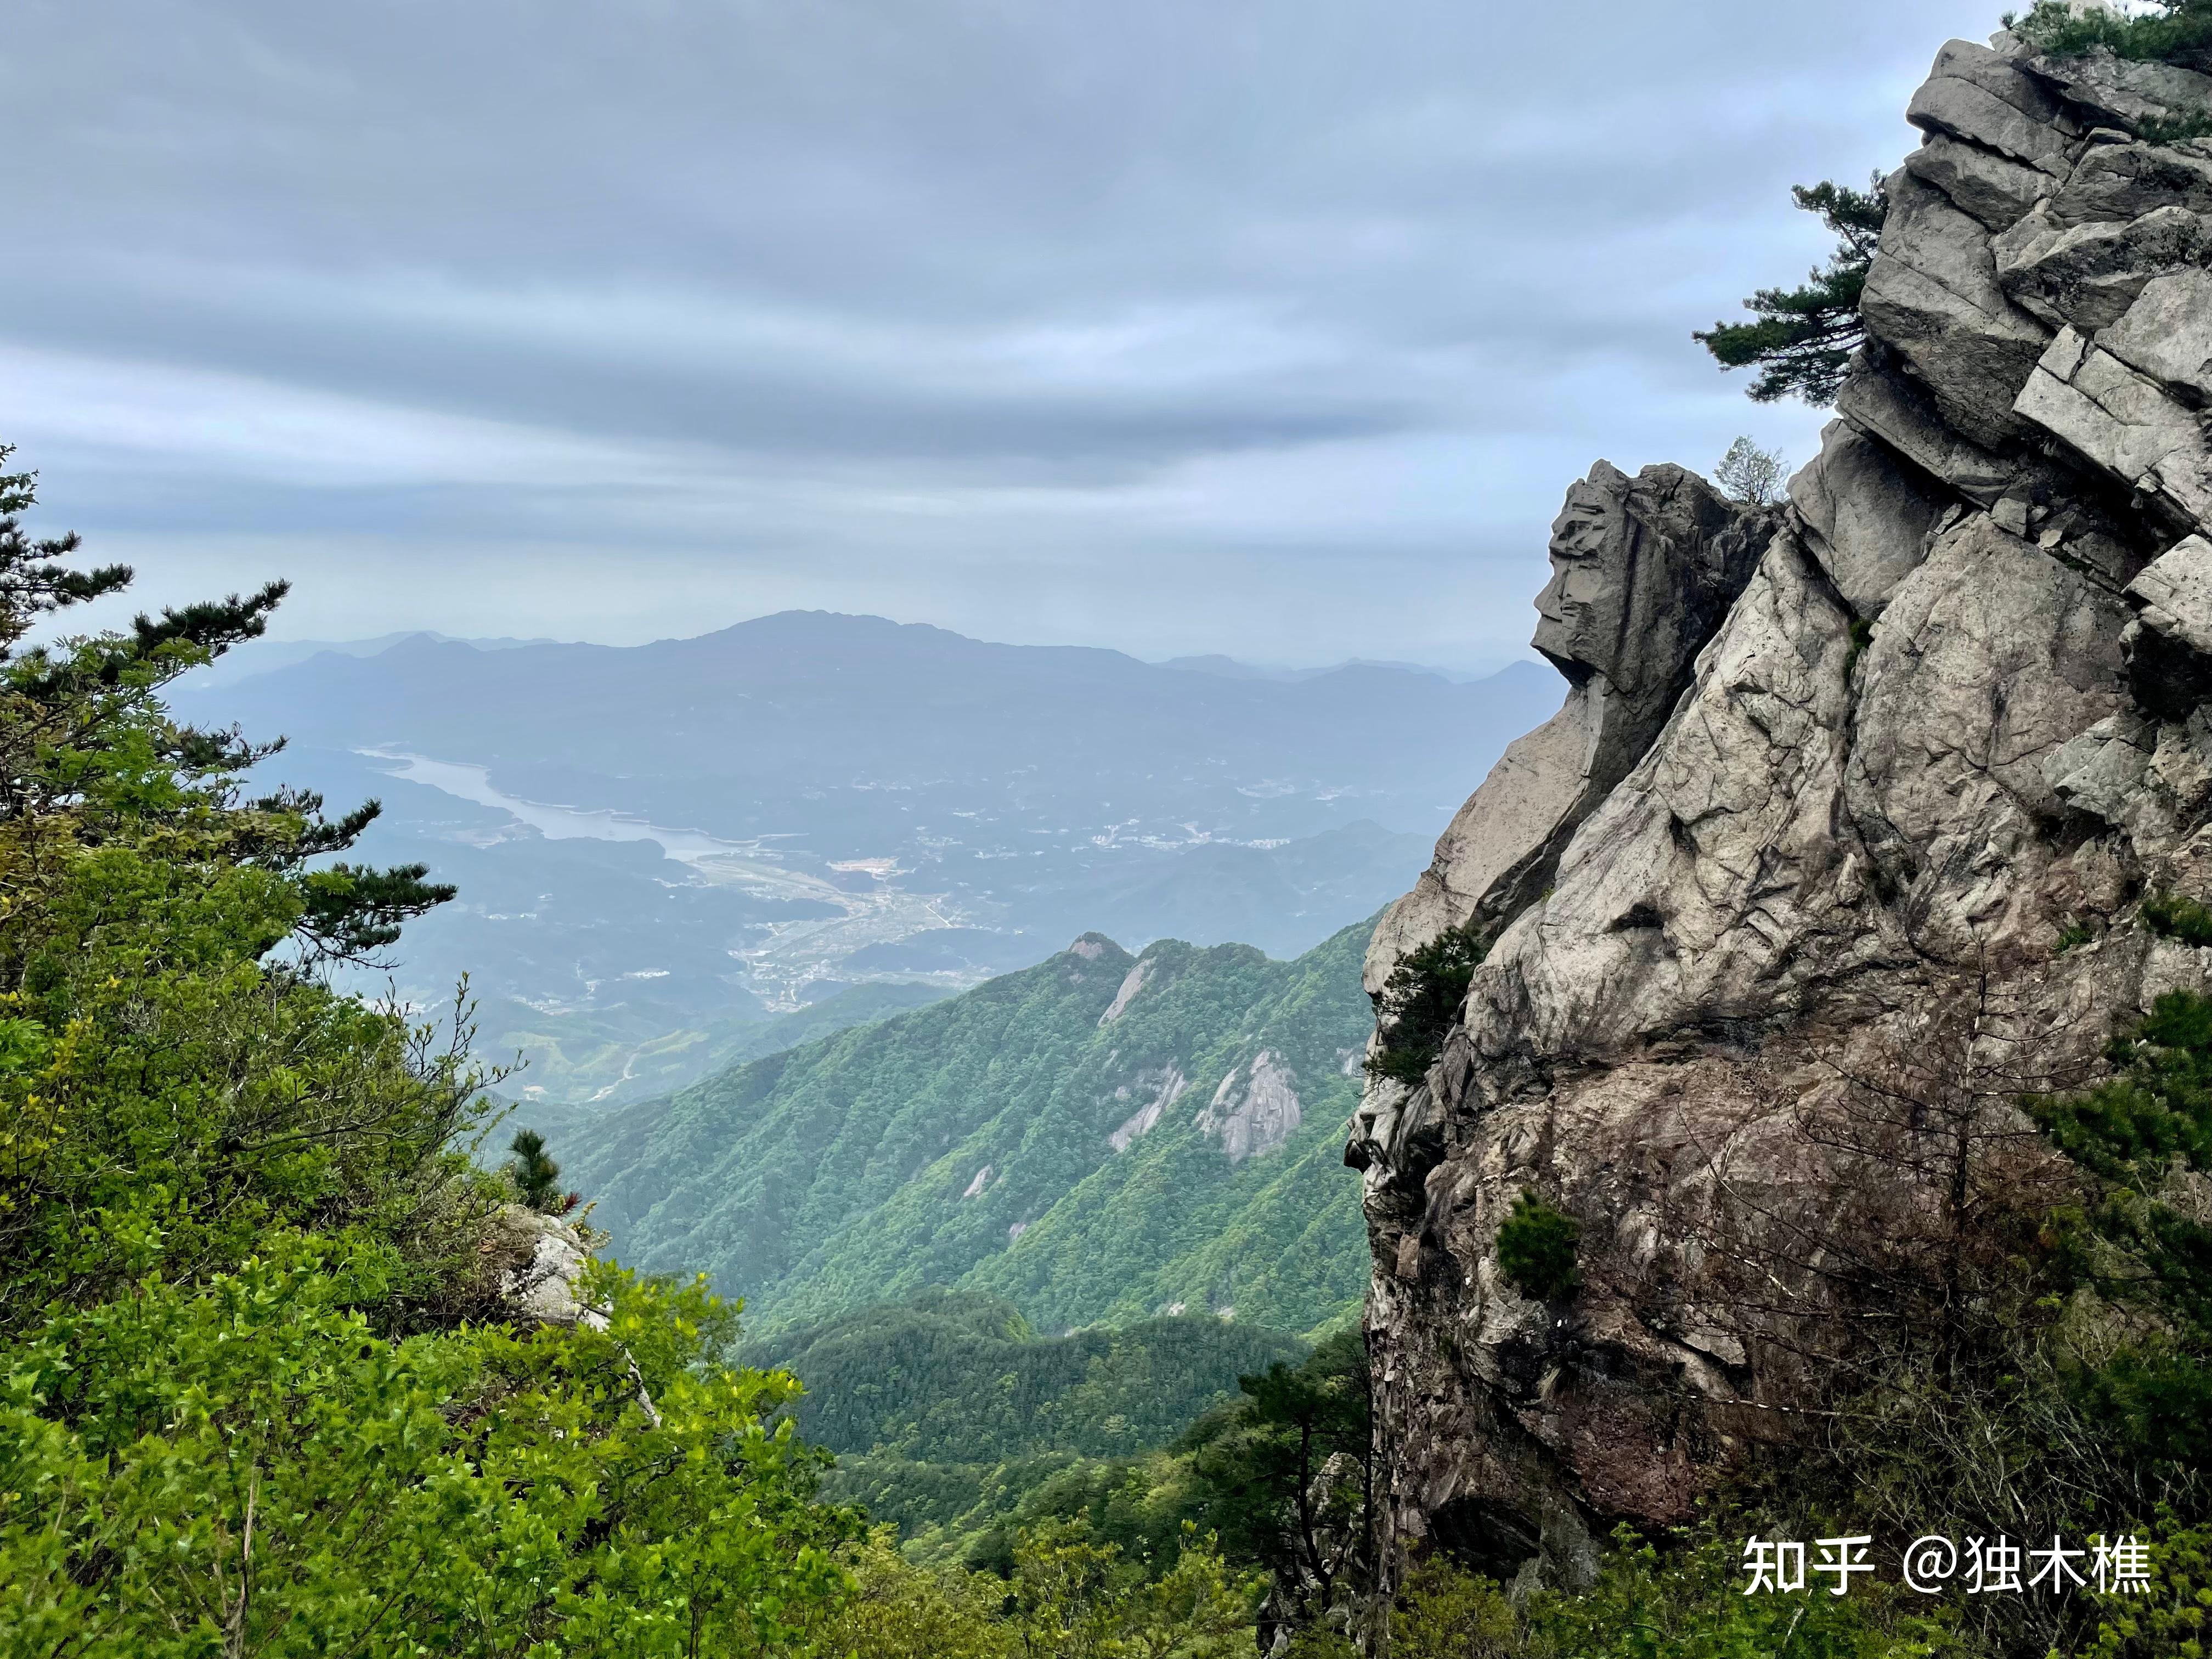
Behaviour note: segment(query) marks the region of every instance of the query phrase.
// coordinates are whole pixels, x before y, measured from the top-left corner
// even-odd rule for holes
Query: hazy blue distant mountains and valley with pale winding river
[[[827,613],[294,653],[250,646],[177,706],[283,732],[272,779],[383,799],[363,854],[460,887],[400,993],[467,971],[524,1097],[602,1104],[847,984],[949,993],[1093,929],[1296,956],[1400,894],[1562,695],[1533,664],[1144,664]]]

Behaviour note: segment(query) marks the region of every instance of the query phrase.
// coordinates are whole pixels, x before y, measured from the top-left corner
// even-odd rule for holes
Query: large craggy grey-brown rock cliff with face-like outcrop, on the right
[[[1869,343],[1790,504],[1674,467],[1568,491],[1535,633],[1566,708],[1376,931],[1369,991],[1447,927],[1491,940],[1347,1148],[1400,1559],[1573,1582],[1787,1433],[1816,1378],[1712,1312],[1694,1239],[1723,1164],[1820,1206],[1785,1133],[1834,1086],[1809,1062],[1960,975],[2084,1053],[2205,984],[2135,905],[2212,891],[2212,142],[2141,137],[2212,80],[1997,35],[1909,115]],[[1582,1223],[1573,1296],[1500,1270],[1522,1192]]]

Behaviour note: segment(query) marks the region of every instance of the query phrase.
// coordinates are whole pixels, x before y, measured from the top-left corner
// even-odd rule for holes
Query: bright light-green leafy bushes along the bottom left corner
[[[712,1363],[703,1287],[591,1325],[380,1340],[389,1261],[305,1237],[55,1312],[4,1358],[0,1628],[24,1652],[794,1652],[845,1513]],[[549,1646],[535,1646],[549,1644]]]

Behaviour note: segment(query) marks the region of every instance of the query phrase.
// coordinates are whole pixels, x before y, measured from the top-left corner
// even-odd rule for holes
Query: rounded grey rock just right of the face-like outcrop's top
[[[1845,420],[1820,434],[1820,453],[1790,480],[1805,546],[1860,617],[1876,615],[1927,555],[1944,495],[1896,451]]]

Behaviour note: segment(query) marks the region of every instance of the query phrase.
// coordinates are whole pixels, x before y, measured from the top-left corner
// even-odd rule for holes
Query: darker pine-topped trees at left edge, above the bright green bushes
[[[24,648],[131,580],[29,535],[31,504],[29,473],[0,476],[0,1336],[55,1298],[223,1272],[283,1228],[400,1245],[392,1316],[420,1318],[467,1283],[456,1217],[491,1203],[453,1150],[480,1110],[467,1022],[440,1042],[316,969],[451,889],[323,867],[374,803],[332,821],[312,794],[250,796],[272,745],[161,706],[283,584]]]

